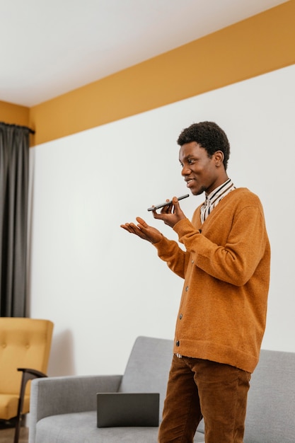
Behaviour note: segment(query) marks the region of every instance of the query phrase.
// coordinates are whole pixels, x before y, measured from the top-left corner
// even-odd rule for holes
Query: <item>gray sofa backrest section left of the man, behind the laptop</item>
[[[172,357],[172,340],[138,337],[132,347],[119,391],[160,393],[161,417]]]

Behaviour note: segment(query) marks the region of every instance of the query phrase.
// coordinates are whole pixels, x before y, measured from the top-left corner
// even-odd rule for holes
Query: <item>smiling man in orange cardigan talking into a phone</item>
[[[178,138],[182,175],[193,195],[205,193],[190,222],[176,197],[154,218],[175,241],[137,217],[122,225],[151,242],[185,280],[175,328],[159,443],[192,442],[204,417],[206,443],[243,443],[250,374],[265,330],[270,244],[262,205],[227,176],[229,141],[214,122]]]

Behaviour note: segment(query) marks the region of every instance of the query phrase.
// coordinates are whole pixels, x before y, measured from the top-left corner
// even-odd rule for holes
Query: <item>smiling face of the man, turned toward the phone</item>
[[[222,157],[221,151],[217,151],[209,157],[206,149],[197,142],[181,146],[179,151],[179,161],[183,166],[181,175],[185,178],[187,188],[190,188],[193,195],[199,195],[202,192],[209,194],[226,180],[220,154]]]

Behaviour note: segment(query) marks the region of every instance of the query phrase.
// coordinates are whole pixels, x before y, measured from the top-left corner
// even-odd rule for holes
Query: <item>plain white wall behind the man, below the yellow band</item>
[[[182,281],[120,224],[140,215],[176,238],[146,208],[187,191],[176,139],[202,120],[226,131],[229,176],[265,207],[263,347],[295,351],[294,78],[287,67],[31,150],[30,316],[54,321],[50,375],[122,373],[137,335],[173,338]]]

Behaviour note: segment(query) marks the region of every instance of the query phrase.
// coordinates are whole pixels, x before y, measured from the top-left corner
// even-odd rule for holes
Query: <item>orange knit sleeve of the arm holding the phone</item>
[[[226,224],[231,227],[225,238]],[[219,219],[209,238],[188,220],[178,222],[174,229],[197,267],[236,286],[243,286],[252,277],[268,242],[258,205],[244,206],[228,220]]]

